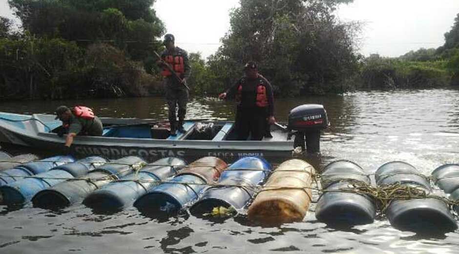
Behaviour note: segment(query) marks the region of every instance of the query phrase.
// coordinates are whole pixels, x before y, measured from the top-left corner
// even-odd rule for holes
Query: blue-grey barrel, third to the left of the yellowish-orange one
[[[98,211],[116,211],[131,206],[135,200],[158,182],[174,176],[187,163],[179,158],[167,157],[153,162],[138,173],[121,178],[89,194],[83,201],[86,206]]]

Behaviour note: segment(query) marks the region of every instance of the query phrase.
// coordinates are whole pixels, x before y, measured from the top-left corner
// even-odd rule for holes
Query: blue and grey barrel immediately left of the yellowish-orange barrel
[[[223,171],[218,184],[243,185],[244,187],[210,187],[201,198],[190,208],[191,214],[201,217],[212,212],[213,208],[224,207],[241,209],[253,197],[254,190],[250,187],[259,185],[271,171],[271,165],[259,157],[244,157],[234,162]]]

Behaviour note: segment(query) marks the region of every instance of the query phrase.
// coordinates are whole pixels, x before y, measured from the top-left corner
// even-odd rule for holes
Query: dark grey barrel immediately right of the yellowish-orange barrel
[[[375,202],[366,195],[349,190],[350,183],[370,185],[371,179],[357,164],[339,160],[325,167],[321,175],[323,193],[317,200],[315,217],[329,225],[362,225],[372,223],[376,215]]]

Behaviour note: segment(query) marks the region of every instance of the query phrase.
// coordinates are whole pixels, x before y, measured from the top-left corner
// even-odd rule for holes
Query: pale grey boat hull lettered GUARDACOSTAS
[[[24,122],[0,121],[0,143],[2,146],[15,145],[29,147],[56,154],[63,147],[64,137],[51,133],[60,121],[52,115],[17,115],[0,112],[2,118],[19,119]],[[27,120],[34,119],[34,120]],[[104,124],[130,124],[148,119],[103,119]],[[151,120],[150,120],[151,122]],[[224,125],[228,122],[220,122]],[[287,140],[287,130],[275,125],[274,139],[263,141],[227,141],[227,140],[180,140],[151,138],[118,138],[77,136],[72,145],[72,153],[77,157],[104,156],[119,159],[126,156],[138,156],[146,161],[154,161],[167,156],[183,158],[201,158],[215,156],[228,161],[244,156],[265,158],[286,158],[292,155],[293,141]]]

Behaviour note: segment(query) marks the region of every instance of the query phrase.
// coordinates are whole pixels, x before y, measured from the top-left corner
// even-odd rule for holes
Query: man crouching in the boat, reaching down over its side
[[[68,133],[64,145],[67,150],[77,135],[102,136],[102,122],[89,107],[76,106],[70,110],[67,106],[59,106],[56,115]]]

